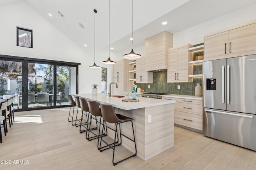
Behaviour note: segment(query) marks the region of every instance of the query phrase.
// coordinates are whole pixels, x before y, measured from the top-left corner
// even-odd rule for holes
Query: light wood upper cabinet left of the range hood
[[[145,71],[145,57],[136,59],[136,83],[153,83],[153,72]]]

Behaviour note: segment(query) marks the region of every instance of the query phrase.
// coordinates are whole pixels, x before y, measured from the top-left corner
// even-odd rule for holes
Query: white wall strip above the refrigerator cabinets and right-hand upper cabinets
[[[173,47],[204,42],[204,34],[256,19],[256,4],[204,22],[173,35]],[[207,14],[202,14],[207,15]],[[199,16],[200,17],[200,16]]]

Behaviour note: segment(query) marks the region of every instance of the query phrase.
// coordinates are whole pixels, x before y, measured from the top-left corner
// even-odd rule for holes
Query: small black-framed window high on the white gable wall
[[[33,31],[17,27],[17,46],[33,48]]]

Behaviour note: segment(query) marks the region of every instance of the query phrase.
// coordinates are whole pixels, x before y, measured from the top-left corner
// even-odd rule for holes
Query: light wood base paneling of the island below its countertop
[[[114,109],[116,113],[134,119],[137,155],[143,160],[152,158],[174,145],[174,104],[132,110]],[[148,123],[148,115],[152,116],[151,123]],[[131,137],[131,128],[130,125],[122,125],[121,131]],[[114,137],[111,130],[108,135]],[[122,137],[122,145],[133,152],[133,143],[125,137]]]

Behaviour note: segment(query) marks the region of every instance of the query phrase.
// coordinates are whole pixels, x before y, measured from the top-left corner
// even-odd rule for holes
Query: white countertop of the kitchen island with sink
[[[164,104],[173,104],[175,101],[160,100],[153,98],[142,98],[137,97],[139,102],[122,102],[124,98],[108,97],[106,94],[98,93],[97,95],[92,94],[76,94],[76,96],[84,97],[90,100],[96,100],[101,104],[111,104],[113,107],[117,107],[124,110],[140,109],[144,107],[160,106]]]

